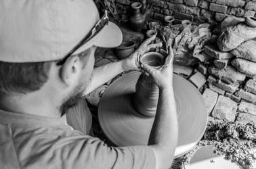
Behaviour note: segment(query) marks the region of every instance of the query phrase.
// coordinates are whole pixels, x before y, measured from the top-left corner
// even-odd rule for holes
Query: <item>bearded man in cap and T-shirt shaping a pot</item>
[[[160,92],[148,146],[108,147],[66,124],[83,95],[138,70],[139,51],[93,70],[95,47],[119,43],[121,31],[91,0],[0,1],[0,168],[169,168],[177,144],[172,59],[161,70],[140,66]]]

